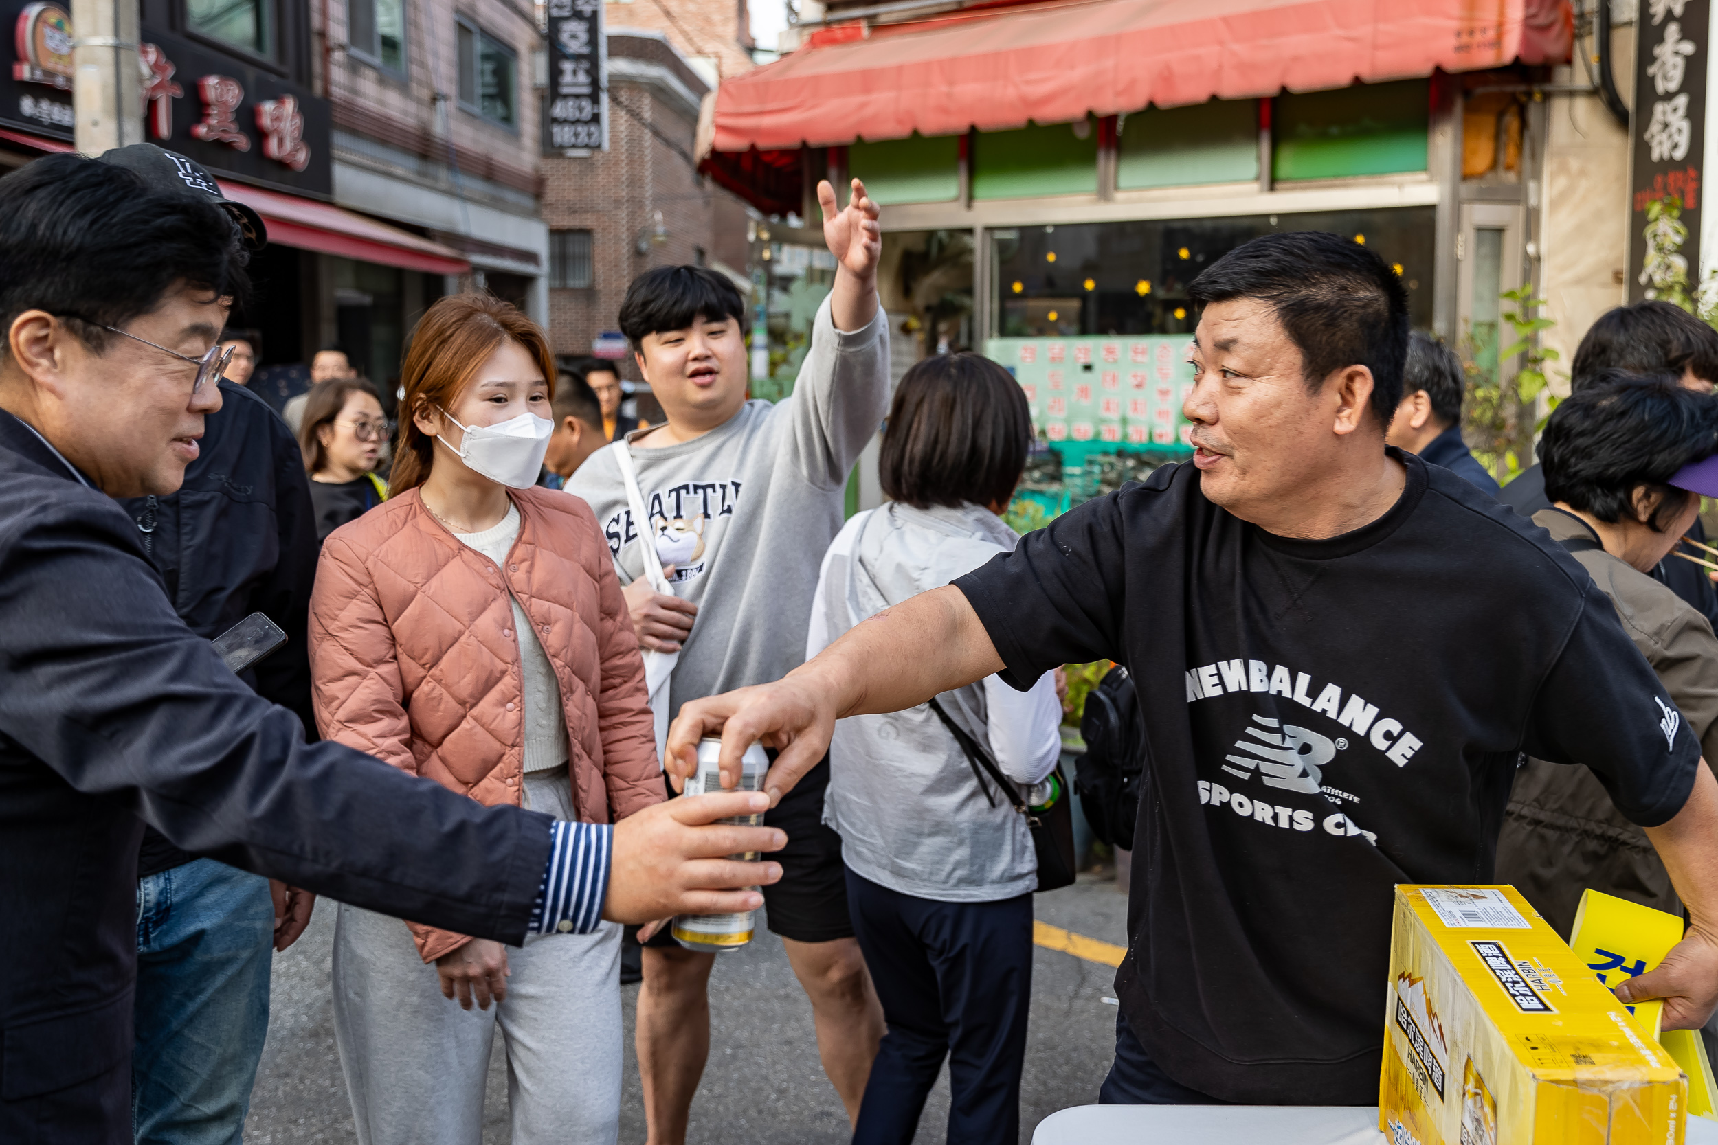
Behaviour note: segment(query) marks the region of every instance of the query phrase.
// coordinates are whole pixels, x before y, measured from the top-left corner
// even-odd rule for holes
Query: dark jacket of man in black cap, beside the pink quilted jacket
[[[137,522],[167,599],[194,633],[213,640],[251,613],[280,625],[287,642],[239,678],[297,714],[304,738],[314,742],[308,628],[318,544],[304,455],[263,398],[225,379],[220,393],[222,407],[203,419],[201,451],[179,493],[120,506]],[[191,858],[144,827],[139,875]]]

